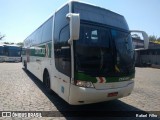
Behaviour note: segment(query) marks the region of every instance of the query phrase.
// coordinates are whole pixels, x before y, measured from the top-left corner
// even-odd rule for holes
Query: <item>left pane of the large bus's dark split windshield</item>
[[[80,38],[74,41],[75,73],[81,71],[91,76],[113,73],[109,29],[87,24],[80,27]]]

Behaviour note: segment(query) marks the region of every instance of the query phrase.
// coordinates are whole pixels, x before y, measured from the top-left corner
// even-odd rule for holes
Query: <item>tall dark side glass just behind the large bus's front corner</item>
[[[64,6],[55,14],[54,28],[54,53],[55,66],[61,73],[70,76],[71,60],[69,40],[69,25],[66,14],[69,12],[68,5]]]

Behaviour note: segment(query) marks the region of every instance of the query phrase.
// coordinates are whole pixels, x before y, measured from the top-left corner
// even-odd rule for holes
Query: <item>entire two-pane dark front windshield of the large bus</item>
[[[129,33],[81,24],[74,42],[75,72],[91,76],[123,76],[134,71],[134,51]]]

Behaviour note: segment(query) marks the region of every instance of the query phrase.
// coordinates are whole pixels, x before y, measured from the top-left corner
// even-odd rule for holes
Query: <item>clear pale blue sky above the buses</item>
[[[68,0],[0,0],[2,42],[23,42]],[[123,15],[130,30],[160,37],[160,0],[79,0]]]

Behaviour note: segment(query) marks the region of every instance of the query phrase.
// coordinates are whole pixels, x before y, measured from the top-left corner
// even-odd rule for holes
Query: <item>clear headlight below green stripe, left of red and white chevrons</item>
[[[93,83],[89,81],[76,80],[76,85],[80,87],[94,88]]]

